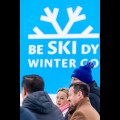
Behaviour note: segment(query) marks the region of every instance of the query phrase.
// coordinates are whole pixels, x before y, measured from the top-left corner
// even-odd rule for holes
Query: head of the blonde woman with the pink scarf
[[[57,92],[57,97],[56,97],[56,104],[58,107],[63,107],[68,103],[68,89],[66,88],[61,88]]]

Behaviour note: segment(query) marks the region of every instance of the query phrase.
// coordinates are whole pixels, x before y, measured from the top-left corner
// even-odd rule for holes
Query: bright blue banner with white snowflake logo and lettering
[[[20,91],[24,75],[38,74],[56,94],[86,61],[100,86],[100,0],[20,0]]]

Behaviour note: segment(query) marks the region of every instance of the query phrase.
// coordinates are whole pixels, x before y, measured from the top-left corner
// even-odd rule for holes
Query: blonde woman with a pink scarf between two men
[[[68,99],[68,89],[66,88],[59,89],[57,92],[56,104],[62,111],[64,117],[70,106],[67,99]]]

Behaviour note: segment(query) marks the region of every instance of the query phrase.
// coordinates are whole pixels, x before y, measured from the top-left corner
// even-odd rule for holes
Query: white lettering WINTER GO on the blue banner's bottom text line
[[[83,65],[84,62],[89,61],[88,59],[82,59],[79,65]],[[99,65],[97,59],[91,59],[91,62],[95,63],[95,67]],[[77,61],[75,59],[28,59],[28,65],[30,68],[76,68]]]

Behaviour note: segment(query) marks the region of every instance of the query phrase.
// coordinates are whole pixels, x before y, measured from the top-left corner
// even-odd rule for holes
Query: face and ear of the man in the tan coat
[[[70,105],[75,106],[79,102],[79,100],[80,100],[79,92],[75,94],[73,86],[70,87],[69,96],[68,96],[68,101],[69,101]]]

